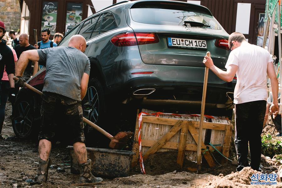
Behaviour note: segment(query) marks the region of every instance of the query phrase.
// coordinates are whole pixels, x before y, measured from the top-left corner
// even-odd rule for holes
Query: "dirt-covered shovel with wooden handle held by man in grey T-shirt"
[[[13,79],[15,81],[18,80],[17,77],[13,77]],[[34,91],[35,93],[42,95],[43,93],[41,91],[39,91],[38,89],[34,88],[33,86],[30,86],[27,83],[24,83],[24,85],[29,88],[30,90]],[[111,140],[109,147],[112,149],[122,149],[127,141],[132,138],[133,133],[131,132],[119,132],[118,134],[116,134],[116,136],[112,136],[110,133],[106,132],[104,129],[102,129],[101,127],[99,127],[98,125],[96,125],[95,123],[89,121],[88,119],[83,117],[83,121],[85,123],[87,123],[88,125],[90,125],[91,127],[95,128],[97,131],[99,131],[100,133],[102,133],[103,135],[105,135],[107,138],[109,138]]]

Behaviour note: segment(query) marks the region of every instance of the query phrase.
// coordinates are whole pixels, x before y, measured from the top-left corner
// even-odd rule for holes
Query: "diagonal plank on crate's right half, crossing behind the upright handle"
[[[189,129],[191,135],[193,136],[193,138],[194,138],[196,144],[198,144],[199,133],[197,132],[196,128],[193,126],[193,123],[192,123],[192,122],[188,122],[188,129]],[[203,142],[202,140],[201,140],[201,143],[200,143],[200,144],[201,144],[201,148],[202,148],[202,147],[206,148],[206,147],[205,147],[205,144],[204,144],[204,142]],[[215,162],[214,162],[212,156],[210,155],[210,152],[209,152],[209,151],[205,151],[205,149],[204,149],[204,150],[201,149],[201,152],[203,153],[203,156],[205,157],[205,159],[206,159],[208,165],[209,165],[210,167],[214,167],[216,164],[215,164]]]

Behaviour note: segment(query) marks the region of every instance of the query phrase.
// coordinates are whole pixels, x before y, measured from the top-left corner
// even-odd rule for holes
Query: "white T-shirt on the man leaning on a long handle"
[[[225,68],[237,65],[237,84],[234,104],[267,100],[267,64],[272,62],[269,52],[262,47],[243,43],[231,51]]]

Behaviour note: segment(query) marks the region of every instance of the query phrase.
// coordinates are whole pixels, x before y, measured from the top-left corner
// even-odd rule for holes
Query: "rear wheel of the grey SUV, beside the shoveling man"
[[[81,101],[83,107],[83,116],[91,122],[101,126],[105,111],[105,98],[101,82],[92,78],[89,80],[85,97]],[[85,132],[89,133],[93,128],[90,125],[85,126]]]

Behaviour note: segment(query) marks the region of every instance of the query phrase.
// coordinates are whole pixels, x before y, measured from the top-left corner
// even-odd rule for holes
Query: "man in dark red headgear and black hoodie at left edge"
[[[9,97],[12,101],[15,99],[15,83],[13,77],[15,76],[15,62],[14,55],[12,50],[6,45],[6,40],[3,40],[3,36],[5,35],[5,24],[0,21],[0,80],[3,77],[4,67],[6,67],[6,72],[8,74],[9,82],[10,82],[10,91]],[[1,84],[0,84],[0,92],[1,92]],[[1,98],[0,98],[1,100]],[[0,139],[3,139],[0,130]]]

